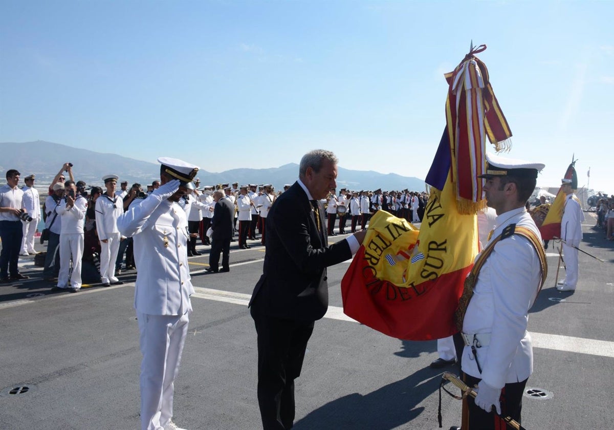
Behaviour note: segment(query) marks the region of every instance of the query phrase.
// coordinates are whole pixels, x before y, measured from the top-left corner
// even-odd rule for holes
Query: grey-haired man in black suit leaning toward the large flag
[[[351,258],[365,232],[328,246],[321,199],[336,187],[337,158],[316,150],[266,217],[263,274],[249,303],[258,334],[258,405],[265,430],[292,428],[298,378],[314,321],[328,308],[328,266]]]

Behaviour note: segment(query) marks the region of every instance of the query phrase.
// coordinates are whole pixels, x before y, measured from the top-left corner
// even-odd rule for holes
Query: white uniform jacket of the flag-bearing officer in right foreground
[[[542,238],[523,208],[497,216],[491,240],[510,224],[527,227]],[[527,238],[512,235],[494,247],[478,275],[462,331],[491,335],[488,346],[476,348],[481,375],[470,346],[465,346],[462,370],[494,388],[527,379],[533,372],[533,350],[527,332],[529,308],[541,282],[537,252]]]

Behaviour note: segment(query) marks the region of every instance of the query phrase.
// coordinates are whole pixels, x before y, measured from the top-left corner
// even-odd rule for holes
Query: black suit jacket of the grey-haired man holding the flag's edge
[[[326,313],[326,268],[350,259],[352,252],[346,240],[328,246],[324,208],[318,205],[324,240],[313,206],[298,182],[271,206],[263,274],[249,303],[253,311],[300,321],[315,321]]]

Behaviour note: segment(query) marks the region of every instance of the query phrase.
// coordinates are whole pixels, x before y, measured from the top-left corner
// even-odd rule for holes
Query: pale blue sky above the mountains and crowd
[[[446,82],[486,44],[510,157],[614,193],[614,2],[0,2],[0,141],[208,171],[298,162],[424,179]],[[341,179],[341,178],[340,178]]]

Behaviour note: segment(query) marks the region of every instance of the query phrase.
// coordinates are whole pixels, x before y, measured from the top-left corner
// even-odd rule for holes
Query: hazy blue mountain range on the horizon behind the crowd
[[[71,162],[75,178],[82,179],[88,185],[101,185],[105,174],[115,173],[120,179],[132,184],[150,184],[160,178],[160,165],[118,154],[103,154],[58,143],[45,141],[24,143],[0,143],[0,174],[4,178],[6,170],[15,168],[22,176],[36,174],[38,182],[51,181],[65,162]],[[298,164],[288,163],[279,167],[265,169],[236,168],[212,173],[206,170],[198,172],[201,185],[215,185],[225,182],[239,184],[273,184],[275,189],[282,189],[284,184],[292,184],[298,177]],[[399,174],[377,173],[375,171],[349,170],[338,168],[338,187],[351,190],[424,190],[424,181],[418,178],[400,176]]]

